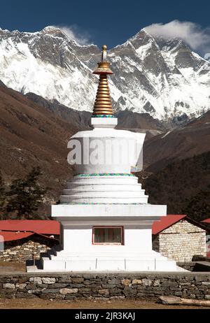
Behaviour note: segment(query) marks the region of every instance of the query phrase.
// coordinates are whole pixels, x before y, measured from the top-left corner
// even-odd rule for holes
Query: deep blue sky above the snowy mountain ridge
[[[99,46],[107,43],[111,48],[125,42],[141,28],[159,24],[156,25],[158,32],[165,33],[169,27],[170,32],[177,29],[176,34],[183,32],[186,38],[198,32],[197,38],[202,33],[204,43],[208,43],[209,13],[209,0],[6,0],[1,1],[0,27],[20,31],[38,31],[48,25],[69,27],[79,41]],[[173,20],[182,24],[167,25]],[[193,24],[189,27],[183,22]],[[166,24],[165,29],[161,29],[160,24]],[[199,51],[199,46],[199,43],[195,45],[195,51],[197,48]]]

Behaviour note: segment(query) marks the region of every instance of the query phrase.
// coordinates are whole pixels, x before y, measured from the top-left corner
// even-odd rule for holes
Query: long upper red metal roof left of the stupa
[[[1,220],[0,230],[59,234],[59,222],[55,220]]]

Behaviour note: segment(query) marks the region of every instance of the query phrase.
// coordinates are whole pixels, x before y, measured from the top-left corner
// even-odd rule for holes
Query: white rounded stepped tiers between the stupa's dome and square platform
[[[147,203],[137,176],[75,175],[60,196],[61,203]]]

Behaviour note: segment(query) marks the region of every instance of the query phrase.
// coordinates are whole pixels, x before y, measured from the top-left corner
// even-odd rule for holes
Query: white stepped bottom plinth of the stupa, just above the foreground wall
[[[48,257],[41,257],[43,269],[34,266],[27,267],[29,272],[97,272],[97,271],[186,271],[176,266],[176,261],[169,260],[161,256],[158,252],[139,253],[109,253],[93,254],[84,252],[83,254],[65,254],[56,248],[48,252]]]

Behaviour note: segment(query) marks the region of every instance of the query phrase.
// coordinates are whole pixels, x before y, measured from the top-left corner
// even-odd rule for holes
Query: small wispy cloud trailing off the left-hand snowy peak
[[[79,45],[90,45],[90,34],[87,31],[80,31],[79,27],[73,26],[55,26],[62,30],[66,36],[73,39]]]

